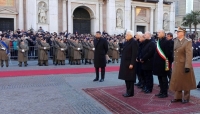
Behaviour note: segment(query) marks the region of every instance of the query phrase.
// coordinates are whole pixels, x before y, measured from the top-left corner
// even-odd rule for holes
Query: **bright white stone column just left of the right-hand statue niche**
[[[116,10],[115,10],[115,0],[107,0],[107,18],[106,27],[108,34],[114,34],[116,28]]]

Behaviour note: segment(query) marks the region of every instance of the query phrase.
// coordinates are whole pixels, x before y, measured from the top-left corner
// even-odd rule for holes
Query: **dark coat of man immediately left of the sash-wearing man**
[[[152,40],[145,40],[144,47],[141,50],[141,60],[143,70],[153,70],[153,60],[156,51],[156,44]]]

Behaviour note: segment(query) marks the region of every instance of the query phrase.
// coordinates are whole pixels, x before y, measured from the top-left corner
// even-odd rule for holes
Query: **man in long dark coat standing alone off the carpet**
[[[96,71],[96,78],[93,81],[99,80],[99,68],[101,68],[101,79],[99,82],[103,82],[105,78],[106,67],[106,54],[108,52],[108,42],[101,37],[101,32],[96,32],[96,38],[94,40],[94,67]]]

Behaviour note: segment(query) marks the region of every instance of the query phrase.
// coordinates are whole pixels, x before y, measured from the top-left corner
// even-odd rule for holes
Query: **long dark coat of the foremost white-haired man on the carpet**
[[[132,38],[124,44],[118,76],[119,79],[134,82],[136,81],[137,53],[138,43]],[[133,69],[129,69],[130,65],[133,65]]]

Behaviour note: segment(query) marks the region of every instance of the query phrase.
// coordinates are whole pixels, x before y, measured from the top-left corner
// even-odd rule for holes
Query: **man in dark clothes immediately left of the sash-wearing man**
[[[144,75],[144,92],[151,93],[153,89],[153,59],[156,50],[156,45],[151,39],[151,33],[146,32],[144,34],[145,41],[144,47],[141,50],[140,62],[142,63],[142,72]]]

